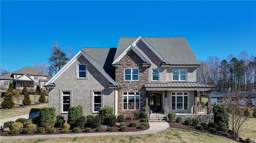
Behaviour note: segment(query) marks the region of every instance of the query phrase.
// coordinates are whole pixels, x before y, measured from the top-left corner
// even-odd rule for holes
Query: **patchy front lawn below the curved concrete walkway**
[[[60,137],[40,139],[17,139],[11,140],[18,143],[237,143],[231,139],[210,135],[201,132],[194,132],[184,129],[168,128],[158,133],[144,135],[113,135],[95,137]],[[6,140],[8,142],[8,140]]]

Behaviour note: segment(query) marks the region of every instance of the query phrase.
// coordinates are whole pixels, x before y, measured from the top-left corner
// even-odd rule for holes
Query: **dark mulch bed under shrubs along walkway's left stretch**
[[[130,127],[130,120],[126,120],[124,122],[119,122],[119,123],[125,123],[125,125],[127,126],[127,130],[126,132],[128,131],[144,131],[146,129],[149,129],[149,124],[147,122],[147,126],[144,128],[144,129],[138,129],[137,127]],[[139,122],[137,121],[138,125],[141,125],[142,122]],[[22,133],[22,129],[19,131],[18,134],[16,135],[54,135],[54,134],[65,134],[65,133],[61,133],[61,129],[63,129],[62,127],[56,127],[56,133],[49,133],[48,131],[44,131],[44,133],[37,133],[37,129],[35,130],[32,130],[30,133],[28,134],[23,134]],[[114,127],[114,131],[107,131],[107,129],[102,129],[102,131],[96,131],[96,128],[95,129],[92,129],[90,132],[85,132],[85,129],[81,129],[80,132],[77,132],[77,133],[104,133],[104,132],[121,132],[120,131],[120,127]],[[67,133],[74,133],[72,132],[72,129],[70,129]],[[16,136],[16,135],[10,135],[9,133],[7,132],[0,132],[0,136]]]

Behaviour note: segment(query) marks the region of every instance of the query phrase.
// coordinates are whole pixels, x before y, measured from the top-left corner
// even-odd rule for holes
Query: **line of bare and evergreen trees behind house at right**
[[[208,57],[198,61],[197,82],[215,85],[216,91],[252,91],[256,89],[256,56],[246,51],[227,59]]]

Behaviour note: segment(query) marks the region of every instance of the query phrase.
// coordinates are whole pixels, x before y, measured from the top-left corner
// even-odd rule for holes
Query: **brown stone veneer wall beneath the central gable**
[[[120,66],[116,68],[116,83],[120,86],[118,89],[118,115],[127,116],[128,111],[123,110],[123,92],[140,92],[140,111],[146,106],[146,89],[144,84],[148,83],[148,67],[143,67],[144,61],[134,53],[128,51],[119,61]],[[124,80],[124,69],[139,69],[138,81]]]

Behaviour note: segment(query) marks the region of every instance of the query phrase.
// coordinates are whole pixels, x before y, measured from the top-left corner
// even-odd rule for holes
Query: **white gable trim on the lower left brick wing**
[[[92,59],[84,53],[84,51],[80,50],[64,67],[60,69],[44,86],[47,86],[50,83],[53,83],[60,75],[66,71],[81,55],[83,55],[109,82],[111,82],[113,85],[118,86],[116,82],[108,75],[106,72],[102,71],[93,61]]]

